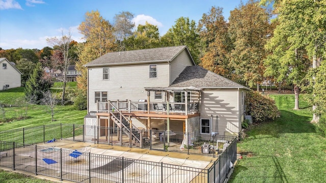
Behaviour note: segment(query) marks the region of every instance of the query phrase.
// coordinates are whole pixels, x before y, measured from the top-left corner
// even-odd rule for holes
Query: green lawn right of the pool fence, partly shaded
[[[326,139],[310,124],[311,109],[294,95],[271,95],[281,112],[275,121],[257,125],[238,143],[243,155],[229,182],[325,182]]]

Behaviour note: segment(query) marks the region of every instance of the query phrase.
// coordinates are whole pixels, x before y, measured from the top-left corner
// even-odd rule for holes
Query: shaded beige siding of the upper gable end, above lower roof
[[[172,83],[179,74],[184,70],[186,66],[193,66],[191,59],[189,58],[186,50],[182,50],[182,52],[175,57],[171,63],[171,76],[170,76],[170,83]]]

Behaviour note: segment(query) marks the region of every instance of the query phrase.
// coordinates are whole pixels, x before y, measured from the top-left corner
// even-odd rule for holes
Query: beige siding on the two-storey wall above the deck
[[[144,87],[169,86],[169,64],[157,64],[157,78],[149,77],[149,65],[129,65],[109,67],[109,79],[103,80],[103,68],[89,69],[89,108],[96,110],[95,92],[108,92],[108,100],[147,100]],[[154,94],[151,94],[154,100]]]

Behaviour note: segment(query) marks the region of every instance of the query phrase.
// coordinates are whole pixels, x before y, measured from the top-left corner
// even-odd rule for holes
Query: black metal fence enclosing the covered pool
[[[92,132],[92,133],[91,133]],[[61,180],[71,180],[75,182],[105,182],[113,175],[114,182],[223,182],[231,167],[236,160],[236,138],[232,136],[204,135],[194,133],[178,133],[167,131],[144,131],[139,130],[140,142],[132,139],[128,135],[130,131],[119,128],[104,128],[84,125],[44,125],[32,128],[22,128],[0,132],[0,167],[7,167],[13,170],[21,170],[57,177]],[[167,138],[167,137],[170,138]],[[207,169],[196,169],[182,167],[164,163],[124,159],[122,157],[110,157],[96,154],[83,154],[79,159],[67,159],[71,150],[41,147],[29,145],[47,142],[52,139],[65,139],[72,141],[101,143],[108,145],[119,145],[136,148],[148,148],[152,150],[172,151],[176,153],[195,154],[203,156],[218,156],[219,158]],[[17,156],[17,150],[30,152],[26,157]],[[57,163],[47,164],[44,157],[37,158],[38,153],[50,152],[48,156],[56,157]],[[33,158],[33,156],[35,158]],[[46,159],[46,158],[45,158]],[[116,160],[116,161],[114,161]],[[68,166],[69,164],[74,166]],[[104,162],[117,162],[111,166],[104,166]],[[125,162],[132,162],[125,164]],[[88,163],[88,164],[87,164]],[[52,164],[56,164],[52,166]],[[70,165],[69,164],[69,165]],[[86,165],[87,164],[87,165]],[[89,167],[92,165],[102,167],[96,169]],[[107,163],[106,163],[107,164]],[[28,166],[26,166],[28,165]],[[50,166],[51,165],[51,166]],[[156,176],[146,175],[144,167],[152,167],[157,172]],[[49,168],[51,167],[51,168]],[[52,167],[55,167],[53,169]],[[115,172],[111,172],[113,169]],[[126,167],[129,167],[126,169]],[[102,172],[101,172],[102,171]],[[172,176],[172,172],[184,171],[180,174],[196,174],[193,178],[182,177],[181,175]],[[59,172],[59,173],[58,173]],[[76,173],[82,172],[82,173]],[[170,172],[170,173],[167,173]],[[171,175],[171,176],[168,176]],[[133,177],[133,179],[131,178]]]

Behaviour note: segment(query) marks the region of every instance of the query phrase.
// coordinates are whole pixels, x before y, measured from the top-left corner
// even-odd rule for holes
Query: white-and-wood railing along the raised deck
[[[98,112],[107,112],[108,110],[112,111],[114,108],[121,111],[143,111],[148,112],[148,103],[147,102],[131,102],[131,101],[110,101],[112,105],[109,107],[109,102],[98,102],[97,111]],[[187,107],[186,103],[167,103],[167,102],[150,102],[149,103],[150,112],[160,112],[167,113],[168,110],[170,113],[179,113],[179,114],[189,114],[197,113],[199,111],[199,102],[188,102]]]

